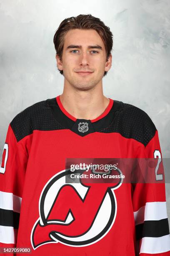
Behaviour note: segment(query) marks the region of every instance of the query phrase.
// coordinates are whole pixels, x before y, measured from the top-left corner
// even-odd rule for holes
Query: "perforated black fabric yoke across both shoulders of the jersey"
[[[15,116],[10,125],[17,141],[34,130],[70,129],[77,133],[72,129],[75,122],[62,113],[55,98],[37,102],[26,108]],[[110,112],[104,118],[93,122],[92,127],[92,132],[120,133],[123,137],[133,138],[145,146],[156,132],[154,123],[143,110],[117,100],[114,100]]]

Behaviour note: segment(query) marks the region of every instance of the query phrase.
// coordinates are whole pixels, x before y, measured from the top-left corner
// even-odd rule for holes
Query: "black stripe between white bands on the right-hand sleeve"
[[[143,237],[160,237],[169,235],[168,218],[162,220],[145,220],[136,225],[136,240]]]

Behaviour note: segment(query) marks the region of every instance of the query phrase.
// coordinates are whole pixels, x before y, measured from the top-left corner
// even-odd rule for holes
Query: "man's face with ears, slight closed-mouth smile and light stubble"
[[[90,90],[110,69],[112,56],[106,62],[105,45],[97,31],[72,29],[64,38],[62,60],[59,56],[56,59],[66,83],[79,90]],[[81,73],[83,71],[90,73]]]

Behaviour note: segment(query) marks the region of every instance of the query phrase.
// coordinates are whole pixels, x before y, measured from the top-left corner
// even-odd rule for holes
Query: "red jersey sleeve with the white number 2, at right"
[[[137,255],[170,256],[170,232],[165,196],[165,176],[158,131],[141,145],[138,158],[159,159],[162,168],[155,172],[155,182],[136,183],[133,191],[133,211],[136,228]],[[157,177],[156,177],[157,176]],[[164,182],[159,182],[164,179]]]

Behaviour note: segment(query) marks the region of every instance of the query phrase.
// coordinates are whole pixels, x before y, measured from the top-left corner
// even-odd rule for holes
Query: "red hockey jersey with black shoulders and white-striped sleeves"
[[[66,159],[157,156],[158,131],[133,105],[110,99],[94,120],[74,118],[60,95],[26,108],[10,123],[2,153],[0,246],[31,255],[170,255],[165,183],[106,190],[65,180]]]

